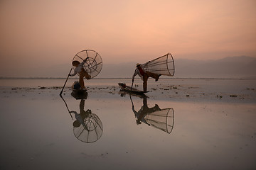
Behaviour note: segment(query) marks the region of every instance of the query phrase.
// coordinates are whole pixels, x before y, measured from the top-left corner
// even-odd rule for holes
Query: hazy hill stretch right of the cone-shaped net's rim
[[[220,60],[176,60],[176,77],[256,78],[256,57],[225,57]]]

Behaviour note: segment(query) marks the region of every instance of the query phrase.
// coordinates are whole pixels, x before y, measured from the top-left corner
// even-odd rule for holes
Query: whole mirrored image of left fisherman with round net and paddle
[[[99,140],[103,132],[102,122],[100,118],[95,113],[92,113],[90,109],[85,111],[85,98],[82,98],[80,101],[80,112],[78,113],[77,111],[70,111],[64,98],[62,96],[60,97],[63,99],[72,119],[73,116],[71,113],[75,115],[75,121],[73,122],[73,132],[75,137],[78,140],[87,143],[92,143]]]

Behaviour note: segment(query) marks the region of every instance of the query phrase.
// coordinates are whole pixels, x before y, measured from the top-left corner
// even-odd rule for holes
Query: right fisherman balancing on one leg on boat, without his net
[[[148,64],[148,62],[146,63]],[[137,68],[135,69],[135,72],[132,76],[132,82],[134,81],[134,77],[138,74],[139,77],[141,77],[141,79],[143,80],[143,90],[144,92],[146,92],[146,86],[147,86],[147,80],[149,79],[149,77],[154,78],[156,81],[158,81],[159,77],[161,76],[161,74],[155,74],[152,72],[146,72],[144,70],[144,67],[146,67],[146,64],[137,64]]]

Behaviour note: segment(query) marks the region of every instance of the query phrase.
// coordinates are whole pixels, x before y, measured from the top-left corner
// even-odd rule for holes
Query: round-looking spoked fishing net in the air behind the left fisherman
[[[75,60],[80,63],[86,60],[83,67],[91,78],[96,77],[102,69],[102,58],[94,50],[82,50],[78,52],[78,54],[73,58],[73,61]],[[75,67],[73,68],[75,69]]]

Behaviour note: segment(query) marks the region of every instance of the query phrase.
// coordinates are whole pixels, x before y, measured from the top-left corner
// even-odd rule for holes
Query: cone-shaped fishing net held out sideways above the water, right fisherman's
[[[174,76],[174,58],[172,57],[171,53],[146,62],[143,65],[147,72],[153,72],[155,74],[171,77]]]

